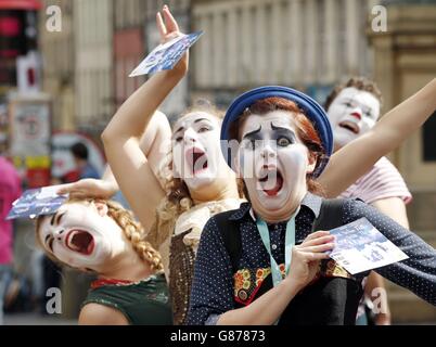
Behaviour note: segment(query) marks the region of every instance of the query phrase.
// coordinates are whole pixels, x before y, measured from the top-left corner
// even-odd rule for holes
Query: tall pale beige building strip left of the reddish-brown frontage
[[[76,119],[99,136],[113,107],[113,1],[74,0]]]

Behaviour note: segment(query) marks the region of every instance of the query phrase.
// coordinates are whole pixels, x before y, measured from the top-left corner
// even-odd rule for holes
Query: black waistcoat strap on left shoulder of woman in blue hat
[[[227,253],[230,256],[230,264],[232,265],[233,273],[238,271],[239,261],[242,253],[241,232],[235,221],[229,220],[234,210],[229,210],[214,216],[221,233]]]

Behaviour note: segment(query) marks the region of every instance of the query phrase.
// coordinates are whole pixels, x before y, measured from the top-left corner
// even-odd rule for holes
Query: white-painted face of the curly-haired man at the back
[[[328,111],[335,147],[341,149],[369,131],[380,116],[380,102],[368,91],[345,88]]]

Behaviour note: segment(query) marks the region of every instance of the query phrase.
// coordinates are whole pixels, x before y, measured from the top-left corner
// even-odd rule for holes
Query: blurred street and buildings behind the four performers
[[[388,111],[436,76],[435,0],[0,0],[0,150],[23,188],[76,180],[68,149],[78,141],[102,174],[100,133],[145,81],[128,75],[158,44],[165,3],[184,33],[205,31],[162,107],[171,120],[197,98],[226,107],[261,85],[323,103],[354,75],[377,82]],[[413,194],[411,230],[433,246],[435,133],[434,116],[389,155]],[[92,278],[48,260],[30,221],[14,226],[13,268],[5,324],[76,324]],[[61,288],[60,314],[47,314],[50,287]],[[436,308],[413,294],[389,283],[388,298],[394,323],[436,323]]]

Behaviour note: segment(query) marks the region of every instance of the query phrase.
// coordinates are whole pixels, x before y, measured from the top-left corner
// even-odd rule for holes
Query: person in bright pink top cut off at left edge
[[[18,172],[3,156],[0,156],[0,325],[3,324],[3,297],[11,279],[13,260],[13,226],[7,221],[12,203],[22,193]]]

